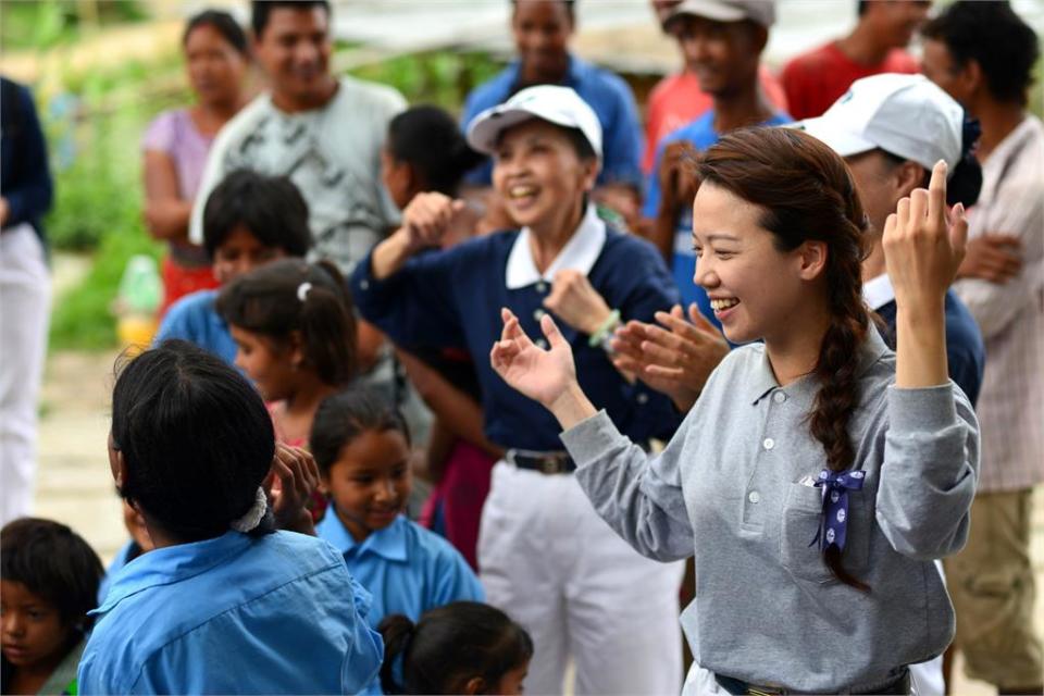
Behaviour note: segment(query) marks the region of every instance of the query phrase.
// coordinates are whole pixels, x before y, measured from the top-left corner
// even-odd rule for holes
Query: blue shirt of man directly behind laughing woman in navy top
[[[482,111],[504,103],[519,91],[520,71],[521,63],[515,61],[468,95],[461,117],[464,130]],[[571,87],[580,95],[601,124],[602,158],[598,184],[629,184],[642,190],[642,127],[634,95],[627,84],[616,73],[570,55],[562,86]],[[487,159],[472,170],[464,181],[474,186],[489,186],[492,175],[493,163]]]

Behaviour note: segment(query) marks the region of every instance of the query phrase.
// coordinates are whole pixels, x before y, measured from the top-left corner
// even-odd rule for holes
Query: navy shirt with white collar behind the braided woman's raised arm
[[[895,290],[888,276],[879,275],[865,283],[862,296],[870,309],[878,312],[887,324],[884,339],[890,347],[895,348]],[[946,290],[944,311],[949,378],[960,387],[974,407],[979,400],[982,373],[986,365],[986,346],[974,316],[953,290]]]

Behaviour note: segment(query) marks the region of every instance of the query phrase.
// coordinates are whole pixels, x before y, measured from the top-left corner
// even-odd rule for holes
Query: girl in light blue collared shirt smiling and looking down
[[[327,397],[309,445],[331,497],[315,531],[373,596],[371,626],[388,614],[418,621],[428,609],[484,599],[460,551],[401,514],[412,487],[410,438],[390,403],[365,389]]]

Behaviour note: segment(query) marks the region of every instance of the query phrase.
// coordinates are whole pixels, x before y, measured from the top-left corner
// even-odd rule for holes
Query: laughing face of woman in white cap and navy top
[[[539,119],[505,130],[494,152],[494,188],[511,219],[537,234],[579,219],[597,175],[597,160],[581,160],[564,128]]]

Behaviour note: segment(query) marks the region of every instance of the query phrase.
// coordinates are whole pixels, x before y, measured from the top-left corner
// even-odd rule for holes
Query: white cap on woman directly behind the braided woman
[[[923,75],[884,73],[857,79],[826,112],[794,124],[841,157],[881,148],[927,170],[961,159],[965,111]]]

